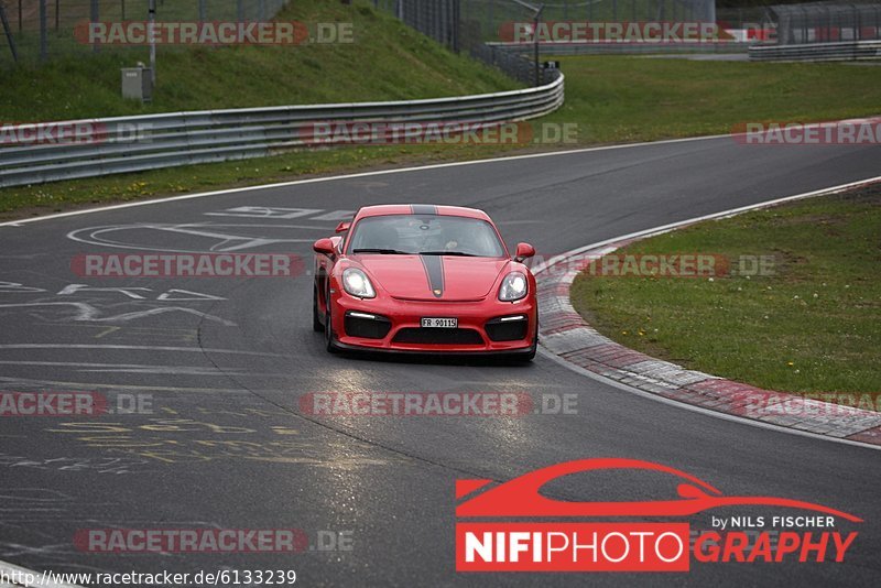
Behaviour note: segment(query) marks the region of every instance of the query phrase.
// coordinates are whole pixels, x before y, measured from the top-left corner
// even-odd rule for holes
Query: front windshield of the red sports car
[[[447,215],[367,217],[355,227],[349,253],[500,258],[504,247],[489,222]]]

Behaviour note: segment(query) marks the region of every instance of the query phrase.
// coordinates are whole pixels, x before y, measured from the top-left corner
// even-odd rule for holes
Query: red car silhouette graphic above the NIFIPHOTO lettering
[[[568,502],[546,498],[541,488],[563,476],[591,470],[635,469],[671,473],[681,478],[675,500],[642,502]],[[457,480],[460,499],[488,486],[491,480]],[[542,468],[480,493],[456,508],[456,516],[685,516],[719,507],[762,505],[805,509],[861,523],[862,520],[822,504],[775,497],[726,497],[707,482],[684,471],[639,459],[579,459]]]

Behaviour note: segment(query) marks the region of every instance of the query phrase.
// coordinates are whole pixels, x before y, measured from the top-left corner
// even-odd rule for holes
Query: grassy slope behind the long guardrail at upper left
[[[146,112],[434,98],[519,87],[501,72],[445,51],[367,2],[296,0],[279,20],[351,22],[354,43],[157,50],[151,105],[123,100],[120,67],[145,48],[53,57],[3,70],[0,120],[48,121]],[[73,39],[70,43],[74,43]],[[88,47],[84,47],[88,50]]]

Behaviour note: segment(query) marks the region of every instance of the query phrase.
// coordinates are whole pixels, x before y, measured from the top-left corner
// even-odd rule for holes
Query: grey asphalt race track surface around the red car
[[[602,149],[242,189],[0,227],[0,390],[95,391],[140,414],[0,418],[0,560],[35,570],[295,569],[306,586],[870,586],[881,573],[878,451],[643,399],[545,357],[529,366],[330,356],[312,282],[93,279],[81,253],[292,252],[359,206],[485,209],[509,247],[551,255],[699,215],[875,176],[877,146],[749,146],[730,138]],[[254,208],[304,209],[292,218]],[[298,216],[297,216],[298,215]],[[18,284],[18,285],[17,285]],[[91,290],[73,286],[86,284]],[[141,290],[112,290],[112,288]],[[111,290],[95,290],[111,288]],[[311,392],[577,395],[577,414],[329,417]],[[115,404],[116,405],[116,404]],[[780,496],[861,516],[844,563],[699,564],[668,575],[455,571],[454,483],[504,481],[590,457],[671,466],[727,494]],[[594,476],[594,475],[591,475]],[[566,500],[672,498],[659,475],[570,476]],[[674,492],[674,494],[671,494]],[[788,514],[732,508],[689,518]],[[290,529],[351,538],[298,554],[96,554],[88,529]],[[874,580],[872,578],[875,578]]]

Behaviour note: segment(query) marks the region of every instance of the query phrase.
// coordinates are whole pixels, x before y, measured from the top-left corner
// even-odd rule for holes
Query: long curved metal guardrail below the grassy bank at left
[[[501,123],[541,117],[564,98],[564,77],[522,90],[427,100],[168,112],[65,121],[76,142],[0,141],[0,187],[194,163],[260,157],[315,144],[316,122]],[[323,138],[320,144],[346,143]]]

